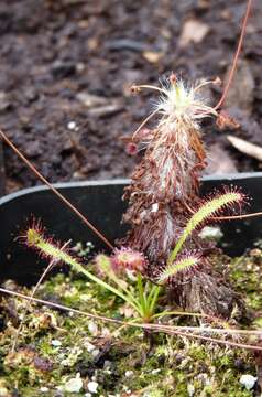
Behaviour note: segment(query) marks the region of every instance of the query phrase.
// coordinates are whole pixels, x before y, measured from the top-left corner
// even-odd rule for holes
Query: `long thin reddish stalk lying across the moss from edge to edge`
[[[156,332],[165,332],[165,333],[174,334],[174,335],[178,335],[178,336],[199,339],[199,340],[204,340],[204,341],[208,341],[208,342],[220,343],[220,344],[232,346],[232,347],[262,351],[262,346],[255,346],[255,345],[250,345],[250,344],[241,344],[241,343],[237,343],[237,342],[217,340],[217,339],[214,339],[214,337],[203,336],[203,335],[195,335],[194,333],[182,332],[182,331],[178,331],[177,329],[168,326],[168,325],[146,324],[146,323],[143,323],[143,324],[129,323],[129,322],[121,321],[121,320],[114,320],[114,319],[106,318],[103,315],[90,314],[90,313],[84,312],[81,310],[67,308],[67,307],[65,307],[63,304],[48,302],[48,301],[45,301],[45,300],[42,300],[42,299],[32,298],[32,297],[25,296],[23,293],[15,292],[15,291],[10,291],[10,290],[3,289],[3,288],[0,288],[0,292],[8,293],[10,296],[14,296],[14,297],[18,297],[18,298],[21,298],[21,299],[34,301],[36,303],[50,305],[52,308],[56,308],[56,309],[59,309],[59,310],[69,311],[69,312],[76,313],[76,314],[85,315],[85,316],[88,316],[90,319],[101,320],[103,322],[110,322],[110,323],[120,324],[120,325],[124,325],[124,326],[140,328],[140,329],[144,329],[144,330],[152,330],[152,331],[156,331]],[[203,330],[203,331],[205,332],[205,330]]]

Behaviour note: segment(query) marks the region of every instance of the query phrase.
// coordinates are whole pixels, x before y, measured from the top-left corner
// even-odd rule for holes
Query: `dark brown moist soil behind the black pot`
[[[131,84],[159,84],[171,72],[188,82],[223,79],[244,9],[243,0],[2,0],[0,126],[51,182],[128,176],[138,157],[120,138],[152,107],[152,94],[133,97]],[[226,104],[241,127],[204,127],[209,173],[261,168],[226,137],[261,143],[261,19],[254,0]],[[215,104],[221,87],[207,94]],[[7,192],[39,183],[3,151]]]

